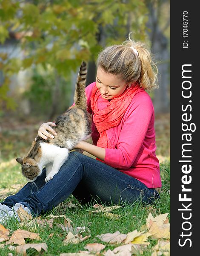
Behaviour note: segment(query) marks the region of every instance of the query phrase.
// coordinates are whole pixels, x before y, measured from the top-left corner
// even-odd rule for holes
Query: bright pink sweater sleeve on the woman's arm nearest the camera
[[[138,93],[123,122],[116,149],[106,148],[104,163],[117,169],[129,169],[143,145],[154,113],[148,94]]]

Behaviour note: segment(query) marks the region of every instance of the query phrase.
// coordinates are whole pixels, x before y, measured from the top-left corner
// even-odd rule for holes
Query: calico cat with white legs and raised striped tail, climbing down
[[[26,157],[16,159],[22,165],[22,174],[28,181],[36,180],[43,166],[47,174],[45,181],[51,180],[66,161],[69,151],[91,134],[91,115],[87,111],[85,94],[86,73],[86,63],[83,61],[77,76],[75,105],[57,117],[54,127],[57,135],[54,139],[44,140],[37,136]]]

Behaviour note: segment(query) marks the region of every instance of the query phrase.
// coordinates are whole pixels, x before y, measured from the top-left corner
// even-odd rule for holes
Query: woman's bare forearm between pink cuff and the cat
[[[106,156],[106,149],[100,148],[98,146],[92,145],[86,141],[81,141],[78,143],[75,148],[83,149],[84,151],[88,152],[89,154],[92,154],[94,157],[99,158],[100,160],[105,159]]]

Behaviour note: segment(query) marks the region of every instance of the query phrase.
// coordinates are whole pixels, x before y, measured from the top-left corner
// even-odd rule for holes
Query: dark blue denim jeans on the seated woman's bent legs
[[[28,207],[34,216],[46,213],[74,195],[83,204],[134,203],[137,200],[152,203],[159,194],[147,188],[139,180],[130,177],[96,159],[70,152],[59,172],[49,180],[46,169],[37,177],[35,186],[27,183],[16,195],[11,195],[2,204],[12,207],[21,203]]]

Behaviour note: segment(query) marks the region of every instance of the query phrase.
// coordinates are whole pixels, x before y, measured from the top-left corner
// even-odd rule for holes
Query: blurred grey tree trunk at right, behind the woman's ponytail
[[[169,5],[166,6],[166,3],[169,3],[169,0],[146,0],[146,6],[149,9],[149,20],[147,23],[149,39],[155,59],[158,61],[157,67],[159,71],[159,90],[154,92],[154,108],[156,112],[161,113],[169,111],[169,49],[165,31],[169,27],[170,16]],[[168,11],[167,19],[162,17],[163,8],[166,8],[166,11]]]

